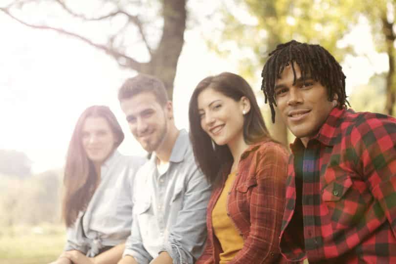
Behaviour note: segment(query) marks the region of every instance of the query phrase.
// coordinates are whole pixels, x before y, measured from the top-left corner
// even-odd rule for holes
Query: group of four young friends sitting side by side
[[[296,136],[291,154],[229,72],[195,88],[189,133],[159,79],[125,81],[120,106],[148,159],[117,152],[108,107],[85,110],[53,264],[396,263],[396,119],[348,108],[346,77],[320,45],[279,44],[262,77],[272,121]]]

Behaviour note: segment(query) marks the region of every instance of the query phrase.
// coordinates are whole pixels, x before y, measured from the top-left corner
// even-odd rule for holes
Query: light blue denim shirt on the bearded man
[[[156,160],[153,154],[136,174],[132,232],[123,255],[148,264],[167,251],[174,264],[193,264],[206,241],[211,186],[198,170],[185,130],[180,131],[162,175]]]

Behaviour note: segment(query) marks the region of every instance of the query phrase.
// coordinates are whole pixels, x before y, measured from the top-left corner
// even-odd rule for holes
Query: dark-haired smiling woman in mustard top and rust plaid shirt
[[[214,183],[206,248],[196,263],[283,262],[288,153],[270,137],[249,84],[229,72],[203,79],[189,119],[196,160]]]

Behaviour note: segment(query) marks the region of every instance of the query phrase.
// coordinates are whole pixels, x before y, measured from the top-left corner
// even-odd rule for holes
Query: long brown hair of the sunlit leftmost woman
[[[77,219],[78,213],[87,207],[98,180],[93,163],[88,159],[82,144],[82,129],[88,117],[106,119],[117,138],[114,149],[124,140],[121,126],[109,107],[91,106],[80,115],[71,135],[66,156],[64,175],[66,190],[62,203],[62,218],[67,227],[71,226]]]

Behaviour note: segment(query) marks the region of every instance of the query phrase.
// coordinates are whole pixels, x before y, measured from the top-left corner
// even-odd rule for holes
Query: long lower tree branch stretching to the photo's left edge
[[[60,34],[71,36],[73,38],[79,39],[79,40],[81,40],[81,41],[83,41],[83,42],[85,42],[85,43],[87,43],[87,44],[89,44],[91,46],[94,46],[94,47],[106,52],[107,54],[112,56],[117,61],[117,63],[120,66],[129,67],[129,68],[132,68],[132,69],[134,69],[136,71],[140,71],[141,67],[143,65],[142,63],[132,59],[131,57],[129,57],[129,56],[125,55],[125,54],[122,54],[122,53],[119,53],[116,50],[110,49],[110,48],[106,47],[105,45],[94,43],[91,40],[89,40],[89,39],[87,39],[87,38],[85,38],[83,36],[80,36],[80,35],[78,35],[76,33],[66,31],[66,30],[64,30],[62,28],[55,28],[55,27],[46,26],[46,25],[29,24],[27,22],[24,22],[24,21],[18,19],[15,16],[13,16],[9,12],[9,10],[7,8],[0,7],[0,11],[4,12],[10,18],[14,19],[17,22],[20,22],[21,24],[23,24],[25,26],[28,26],[28,27],[31,27],[31,28],[35,28],[35,29],[52,30],[52,31],[58,32]]]

